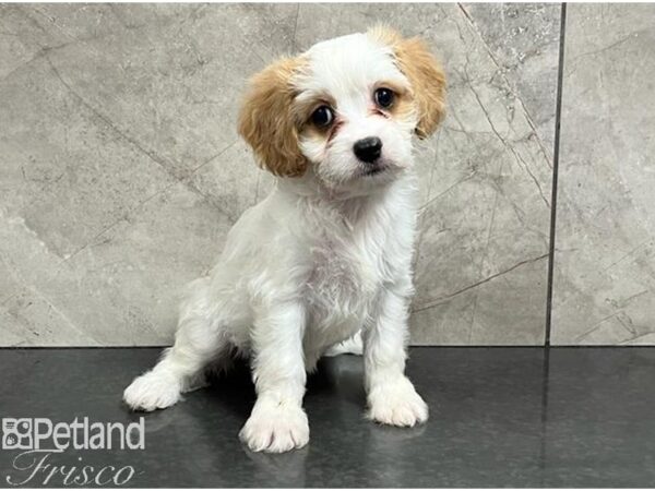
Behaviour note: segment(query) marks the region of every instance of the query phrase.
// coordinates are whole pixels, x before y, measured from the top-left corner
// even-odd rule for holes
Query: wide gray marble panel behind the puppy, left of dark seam
[[[414,343],[541,343],[558,9],[5,4],[0,344],[169,343],[176,294],[272,185],[236,135],[243,81],[378,22],[450,81],[417,152]]]

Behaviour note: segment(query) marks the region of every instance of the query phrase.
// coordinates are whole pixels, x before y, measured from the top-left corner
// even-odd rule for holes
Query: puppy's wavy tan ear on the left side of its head
[[[260,165],[276,176],[301,176],[307,168],[291,110],[293,77],[300,64],[297,58],[283,58],[254,75],[239,113],[239,134]]]

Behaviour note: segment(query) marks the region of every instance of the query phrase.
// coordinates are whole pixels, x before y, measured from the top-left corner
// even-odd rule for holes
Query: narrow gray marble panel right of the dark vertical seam
[[[552,342],[655,343],[654,5],[571,4]]]

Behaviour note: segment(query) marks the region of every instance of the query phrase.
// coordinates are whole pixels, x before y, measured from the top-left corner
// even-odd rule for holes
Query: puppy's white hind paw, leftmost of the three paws
[[[134,410],[154,411],[180,399],[179,380],[168,372],[153,370],[134,379],[123,392],[123,400]]]

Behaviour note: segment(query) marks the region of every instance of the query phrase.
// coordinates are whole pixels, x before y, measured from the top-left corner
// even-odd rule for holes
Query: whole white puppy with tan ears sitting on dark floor
[[[276,187],[235,224],[210,275],[190,284],[175,345],[124,391],[130,407],[171,406],[210,363],[248,356],[258,399],[241,440],[255,452],[298,448],[309,441],[307,372],[360,339],[368,417],[426,421],[404,374],[412,151],[442,119],[444,86],[419,39],[384,27],[319,43],[254,75],[239,133]]]

